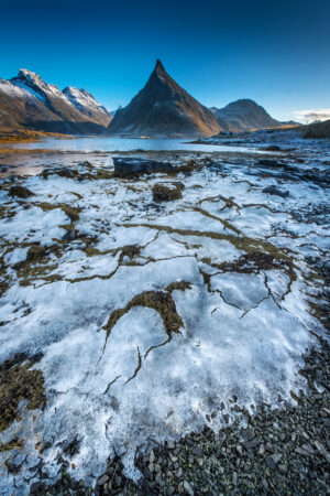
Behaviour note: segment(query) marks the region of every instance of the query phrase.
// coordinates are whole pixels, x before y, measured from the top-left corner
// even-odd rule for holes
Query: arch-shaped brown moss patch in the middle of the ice
[[[172,339],[172,334],[179,333],[179,328],[184,325],[182,317],[176,311],[175,302],[168,292],[145,291],[134,296],[124,309],[114,310],[111,313],[107,325],[103,327],[107,331],[107,339],[110,336],[112,327],[133,306],[146,306],[156,310],[163,319],[164,327],[169,339]]]

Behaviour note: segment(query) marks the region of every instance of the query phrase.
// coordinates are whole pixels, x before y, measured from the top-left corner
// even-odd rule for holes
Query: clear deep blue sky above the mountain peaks
[[[0,0],[0,77],[20,67],[110,110],[157,58],[201,104],[252,98],[280,120],[330,118],[330,0]],[[324,118],[324,117],[322,117]]]

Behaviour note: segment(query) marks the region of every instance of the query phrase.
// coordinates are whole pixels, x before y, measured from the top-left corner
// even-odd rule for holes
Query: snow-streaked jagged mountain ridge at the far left
[[[0,126],[63,133],[103,132],[111,115],[87,91],[72,87],[65,91],[28,69],[20,69],[10,80],[0,79]]]

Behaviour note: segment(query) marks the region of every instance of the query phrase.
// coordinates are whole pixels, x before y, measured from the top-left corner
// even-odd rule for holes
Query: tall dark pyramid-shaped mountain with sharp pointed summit
[[[127,107],[117,110],[107,133],[193,137],[212,136],[220,130],[213,114],[183,89],[157,61],[144,88]]]

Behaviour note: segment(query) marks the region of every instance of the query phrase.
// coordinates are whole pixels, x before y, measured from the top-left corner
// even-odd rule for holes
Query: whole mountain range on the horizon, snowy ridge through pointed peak
[[[183,89],[161,61],[146,85],[124,107],[108,111],[85,89],[63,91],[37,74],[20,69],[10,80],[0,78],[0,129],[62,133],[107,133],[122,137],[198,137],[223,131],[295,126],[280,122],[251,99],[207,108]]]

